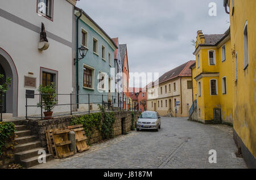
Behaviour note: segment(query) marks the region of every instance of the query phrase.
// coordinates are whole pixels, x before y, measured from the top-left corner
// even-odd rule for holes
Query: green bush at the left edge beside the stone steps
[[[13,148],[13,145],[7,145],[14,139],[14,132],[16,131],[13,122],[0,122],[0,155],[8,148]]]

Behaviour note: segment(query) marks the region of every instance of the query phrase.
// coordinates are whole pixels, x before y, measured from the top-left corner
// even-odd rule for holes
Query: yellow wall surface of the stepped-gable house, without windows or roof
[[[199,36],[199,35],[198,35]],[[200,38],[197,36],[197,41]],[[203,33],[200,33],[203,36]],[[200,45],[200,41],[197,42]],[[226,60],[222,62],[222,46],[226,46]],[[197,47],[197,46],[196,46]],[[209,65],[209,50],[214,50],[216,65]],[[197,95],[197,120],[206,122],[214,119],[213,109],[221,109],[222,122],[232,123],[233,114],[233,91],[232,91],[232,55],[230,37],[225,38],[216,46],[200,46],[196,51],[196,66],[192,68],[193,76],[193,99]],[[197,54],[200,54],[200,67],[197,66]],[[200,74],[212,73],[195,80]],[[218,73],[218,74],[215,74]],[[226,77],[227,93],[222,94],[222,78]],[[217,95],[210,95],[210,80],[217,80]],[[201,97],[199,97],[198,83],[201,82]]]

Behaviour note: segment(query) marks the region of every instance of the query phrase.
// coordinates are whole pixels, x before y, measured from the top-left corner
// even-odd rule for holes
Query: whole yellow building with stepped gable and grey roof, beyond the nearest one
[[[230,29],[222,35],[197,31],[196,63],[191,66],[193,100],[190,118],[203,123],[233,123],[232,55]]]

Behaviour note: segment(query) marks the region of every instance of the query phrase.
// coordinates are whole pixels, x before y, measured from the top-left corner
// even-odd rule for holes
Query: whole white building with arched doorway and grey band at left
[[[55,82],[57,93],[75,90],[75,4],[76,0],[0,1],[0,74],[12,79],[5,97],[5,113],[24,116],[26,91],[39,93],[42,83]],[[42,23],[49,43],[47,50],[39,50]],[[58,104],[70,101],[69,96],[57,98]],[[28,105],[38,102],[39,96],[28,98]],[[54,112],[68,110],[69,106],[56,106]],[[29,107],[31,114],[40,114],[40,108]]]

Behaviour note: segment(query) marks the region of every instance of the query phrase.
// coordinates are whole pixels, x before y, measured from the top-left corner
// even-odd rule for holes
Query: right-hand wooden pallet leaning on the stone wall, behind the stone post
[[[90,148],[86,144],[87,137],[85,136],[84,128],[82,125],[68,126],[68,129],[75,132],[76,148],[78,152],[83,152]]]

